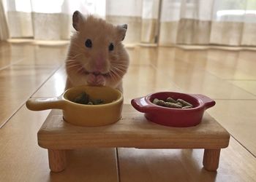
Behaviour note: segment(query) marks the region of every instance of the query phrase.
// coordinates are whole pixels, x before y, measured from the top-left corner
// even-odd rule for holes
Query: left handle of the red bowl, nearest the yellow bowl
[[[157,108],[157,106],[152,106],[151,104],[147,103],[145,97],[134,98],[131,100],[131,104],[137,111],[140,111],[142,113],[147,113],[149,111],[152,111],[152,109]]]

